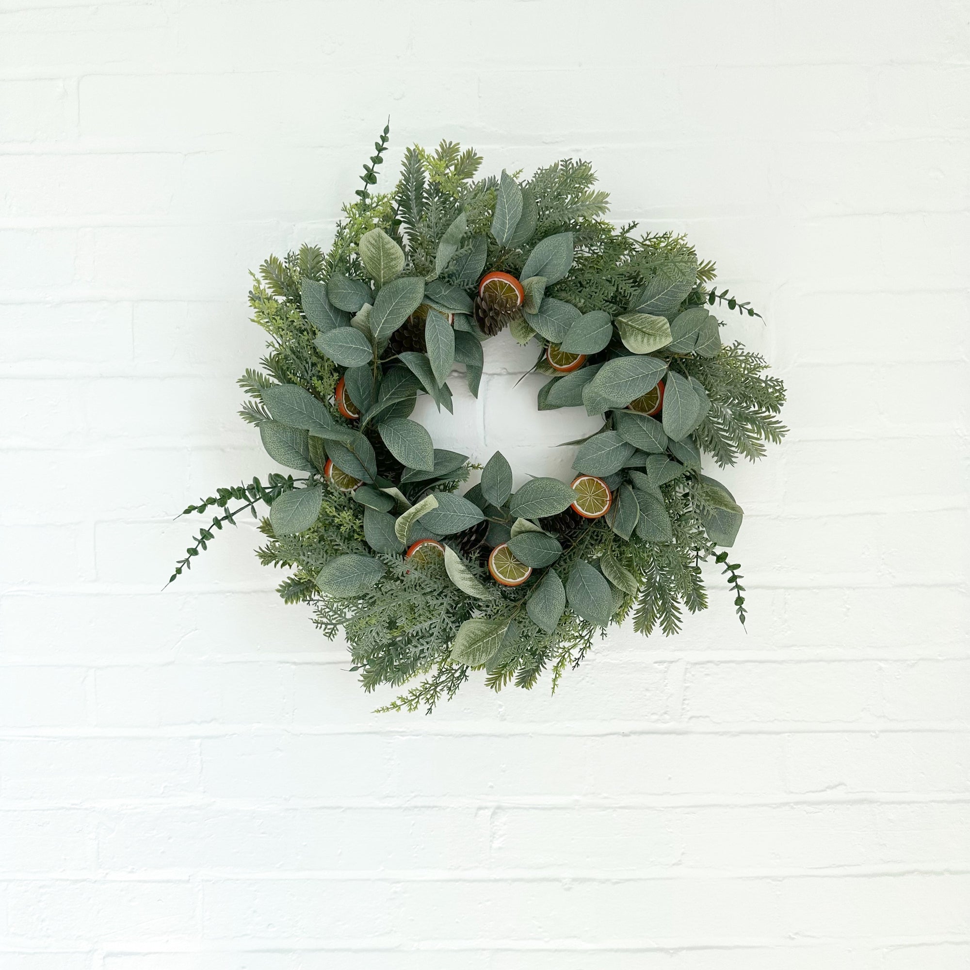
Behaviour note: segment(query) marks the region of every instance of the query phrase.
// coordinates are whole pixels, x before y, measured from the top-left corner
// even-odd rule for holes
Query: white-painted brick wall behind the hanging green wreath
[[[970,965],[965,0],[0,0],[0,968]],[[726,475],[747,633],[376,716],[218,484],[247,272],[384,119],[598,167],[765,316],[792,436]],[[513,390],[443,445],[566,473]],[[467,421],[464,420],[467,418]],[[515,421],[514,437],[509,425]],[[575,432],[572,434],[570,432]]]

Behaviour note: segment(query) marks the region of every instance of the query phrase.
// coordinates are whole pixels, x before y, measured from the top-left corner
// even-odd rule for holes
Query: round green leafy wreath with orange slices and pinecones
[[[214,529],[267,504],[261,562],[292,570],[279,595],[309,602],[325,635],[344,630],[365,689],[425,675],[390,709],[430,710],[480,667],[498,690],[551,666],[555,690],[630,612],[640,632],[680,630],[683,607],[707,605],[704,562],[723,567],[744,623],[740,566],[718,551],[743,513],[701,455],[754,460],[786,432],[781,380],[723,342],[708,307],[758,314],[711,286],[714,264],[682,236],[606,221],[586,162],[476,178],[473,150],[415,146],[394,191],[374,194],[387,142],[385,127],[330,250],[304,245],[253,276],[270,352],[240,380],[242,417],[304,474],[189,505],[222,511],[172,579]],[[513,490],[500,452],[473,464],[411,418],[421,394],[451,410],[456,364],[477,396],[482,343],[505,327],[537,344],[539,409],[603,416],[568,442],[571,481]]]

